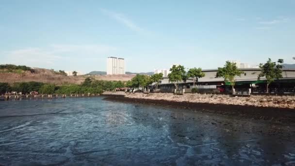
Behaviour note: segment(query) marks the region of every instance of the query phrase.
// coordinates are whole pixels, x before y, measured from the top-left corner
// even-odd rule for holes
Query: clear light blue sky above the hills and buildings
[[[0,64],[126,71],[293,64],[295,0],[1,0]]]

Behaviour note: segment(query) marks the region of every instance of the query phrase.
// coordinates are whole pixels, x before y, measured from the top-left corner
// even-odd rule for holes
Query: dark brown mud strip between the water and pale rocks
[[[288,108],[269,108],[242,105],[210,104],[210,103],[192,103],[167,100],[149,100],[149,99],[131,99],[124,96],[107,95],[104,100],[120,101],[130,103],[140,103],[148,105],[159,105],[168,108],[188,109],[195,112],[206,112],[221,114],[227,116],[236,116],[236,118],[251,118],[260,120],[270,120],[279,123],[295,124],[295,110]]]

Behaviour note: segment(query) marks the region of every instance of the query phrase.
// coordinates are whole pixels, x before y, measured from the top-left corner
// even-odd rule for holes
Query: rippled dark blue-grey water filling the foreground
[[[295,165],[295,127],[102,100],[0,101],[0,165]]]

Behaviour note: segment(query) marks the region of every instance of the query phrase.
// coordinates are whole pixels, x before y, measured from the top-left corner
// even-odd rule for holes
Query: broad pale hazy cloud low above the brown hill
[[[54,67],[55,63],[72,62],[79,59],[98,59],[99,57],[113,55],[116,48],[106,45],[70,45],[52,44],[44,48],[24,48],[0,52],[1,63]]]

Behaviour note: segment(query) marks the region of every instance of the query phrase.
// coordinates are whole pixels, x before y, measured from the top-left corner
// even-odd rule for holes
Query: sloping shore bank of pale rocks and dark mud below
[[[198,94],[107,94],[105,100],[186,108],[193,111],[295,123],[294,97],[229,97]]]

